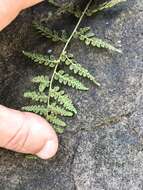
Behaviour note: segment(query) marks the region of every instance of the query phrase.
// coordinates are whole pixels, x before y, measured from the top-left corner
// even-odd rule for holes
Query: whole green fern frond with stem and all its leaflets
[[[73,6],[67,6],[65,11],[68,11],[74,14],[76,17],[79,17],[78,23],[71,35],[68,35],[65,31],[59,34],[55,30],[52,31],[41,24],[34,23],[35,28],[42,36],[51,39],[53,42],[63,43],[64,48],[58,58],[52,55],[49,56],[26,51],[23,52],[25,56],[30,58],[35,63],[44,65],[53,70],[52,76],[41,75],[32,79],[32,82],[38,87],[37,91],[26,92],[24,97],[32,99],[35,104],[31,106],[25,106],[23,107],[23,110],[44,116],[44,118],[46,118],[47,121],[53,125],[58,133],[62,133],[64,131],[67,125],[61,119],[61,116],[72,117],[73,115],[77,114],[77,110],[73,105],[71,98],[65,93],[64,90],[61,89],[61,85],[60,87],[55,85],[55,81],[56,84],[58,82],[76,90],[87,91],[88,88],[82,82],[80,82],[79,79],[75,78],[75,76],[78,75],[90,80],[95,85],[100,86],[95,77],[92,76],[86,68],[77,63],[77,61],[74,59],[74,56],[68,52],[68,46],[71,40],[75,38],[84,42],[87,46],[106,48],[108,50],[121,53],[121,50],[115,48],[108,42],[97,38],[96,35],[91,31],[90,27],[79,28],[79,26],[84,16],[91,16],[98,11],[111,8],[123,1],[125,0],[111,0],[110,2],[100,5],[100,7],[95,8],[93,1],[90,0],[83,12],[80,12],[80,10],[77,8],[74,9]],[[54,3],[54,0],[49,0],[49,2],[58,6],[56,3]],[[60,65],[67,66],[70,74],[64,69],[59,69]]]

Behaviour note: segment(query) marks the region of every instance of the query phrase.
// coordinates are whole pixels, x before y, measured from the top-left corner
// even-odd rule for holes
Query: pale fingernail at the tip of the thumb
[[[51,157],[53,157],[56,152],[55,150],[57,150],[57,147],[56,147],[56,143],[55,141],[52,141],[52,140],[49,140],[45,146],[42,148],[42,150],[37,153],[36,155],[42,159],[49,159]]]

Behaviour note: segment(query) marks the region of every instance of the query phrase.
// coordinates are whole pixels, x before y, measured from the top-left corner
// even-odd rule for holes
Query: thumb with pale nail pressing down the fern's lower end
[[[48,159],[57,152],[58,139],[40,116],[0,105],[0,147]]]

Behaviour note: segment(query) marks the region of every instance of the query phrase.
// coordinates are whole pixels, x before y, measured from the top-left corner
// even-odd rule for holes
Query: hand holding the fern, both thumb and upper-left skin
[[[41,1],[0,0],[0,30],[21,10]],[[52,127],[40,116],[0,105],[0,147],[48,159],[57,152],[58,138]]]

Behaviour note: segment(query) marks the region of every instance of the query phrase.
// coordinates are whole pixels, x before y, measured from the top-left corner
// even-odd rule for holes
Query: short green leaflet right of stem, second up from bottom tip
[[[66,127],[66,123],[53,114],[47,115],[46,119],[55,126]]]

